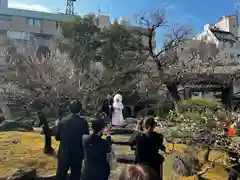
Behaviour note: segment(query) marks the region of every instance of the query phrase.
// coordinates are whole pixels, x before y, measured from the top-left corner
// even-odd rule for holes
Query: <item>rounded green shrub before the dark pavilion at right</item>
[[[212,99],[194,98],[178,103],[178,112],[171,111],[168,120],[176,124],[184,124],[187,128],[207,127],[215,129],[218,122],[227,116],[221,103]]]

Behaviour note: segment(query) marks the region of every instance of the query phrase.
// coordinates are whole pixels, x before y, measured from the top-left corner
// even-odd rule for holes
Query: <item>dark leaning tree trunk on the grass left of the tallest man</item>
[[[47,119],[42,112],[38,112],[38,118],[40,120],[40,126],[42,126],[44,138],[45,138],[44,153],[52,154],[54,150],[52,148],[51,130],[48,126]]]

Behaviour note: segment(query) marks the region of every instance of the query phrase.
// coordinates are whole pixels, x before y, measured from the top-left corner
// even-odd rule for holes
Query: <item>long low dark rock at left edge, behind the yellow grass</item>
[[[24,122],[5,120],[0,124],[0,131],[33,131],[33,127]]]

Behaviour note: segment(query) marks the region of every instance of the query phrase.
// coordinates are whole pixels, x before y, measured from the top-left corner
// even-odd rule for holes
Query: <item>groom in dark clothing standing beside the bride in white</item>
[[[112,122],[112,114],[113,114],[113,98],[111,95],[107,95],[107,99],[103,102],[102,110],[105,117],[104,120],[107,124]]]

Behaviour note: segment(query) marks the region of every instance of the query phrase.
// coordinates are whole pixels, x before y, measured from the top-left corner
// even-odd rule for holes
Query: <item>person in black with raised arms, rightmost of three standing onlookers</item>
[[[148,117],[144,120],[144,131],[137,131],[129,139],[131,147],[136,146],[135,164],[145,164],[151,167],[159,179],[162,179],[162,163],[164,157],[159,154],[159,150],[166,151],[163,135],[154,132],[155,120]]]

